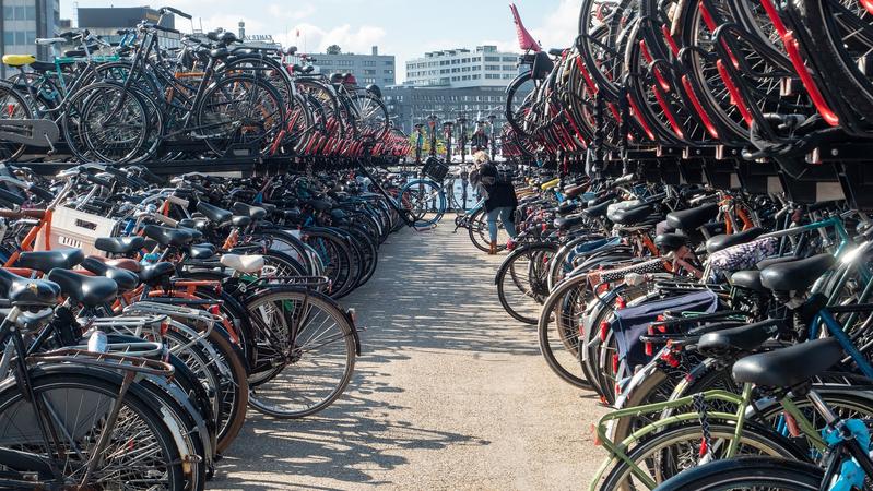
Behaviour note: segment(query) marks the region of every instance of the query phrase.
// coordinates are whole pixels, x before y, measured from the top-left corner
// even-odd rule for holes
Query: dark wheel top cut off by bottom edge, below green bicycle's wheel
[[[815,491],[824,470],[812,464],[768,457],[718,460],[683,472],[659,486],[657,491],[730,491],[776,489]]]

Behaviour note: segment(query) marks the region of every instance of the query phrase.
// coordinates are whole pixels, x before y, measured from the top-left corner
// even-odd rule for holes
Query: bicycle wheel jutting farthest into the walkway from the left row
[[[355,334],[330,298],[278,287],[256,292],[246,307],[256,326],[259,366],[270,370],[249,394],[255,409],[303,418],[342,395],[354,371]]]

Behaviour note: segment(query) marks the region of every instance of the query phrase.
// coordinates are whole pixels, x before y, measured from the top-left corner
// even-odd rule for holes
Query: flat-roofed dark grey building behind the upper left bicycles
[[[119,29],[135,27],[142,21],[158,23],[164,27],[176,28],[175,15],[164,15],[149,7],[97,7],[78,10],[79,28],[86,28],[109,43],[118,43]],[[158,44],[164,48],[180,45],[181,36],[175,33],[157,32]]]

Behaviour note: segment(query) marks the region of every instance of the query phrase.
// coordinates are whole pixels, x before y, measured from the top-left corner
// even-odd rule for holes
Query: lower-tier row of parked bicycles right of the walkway
[[[518,189],[499,300],[615,409],[590,489],[868,489],[868,216],[632,176]]]

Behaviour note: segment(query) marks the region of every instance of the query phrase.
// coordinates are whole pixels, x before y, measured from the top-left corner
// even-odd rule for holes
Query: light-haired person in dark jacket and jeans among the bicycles
[[[473,161],[479,166],[479,185],[485,197],[485,211],[488,216],[488,233],[491,235],[491,250],[488,254],[497,253],[497,218],[511,239],[516,238],[515,214],[518,207],[516,188],[512,185],[511,176],[497,170],[486,152],[477,152]]]

